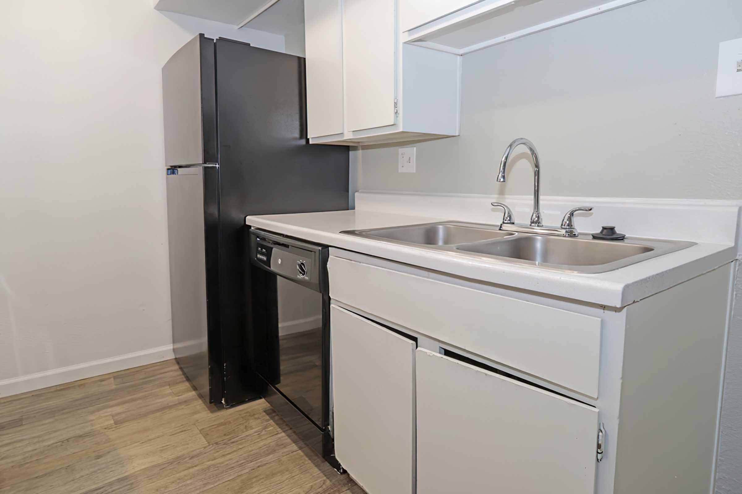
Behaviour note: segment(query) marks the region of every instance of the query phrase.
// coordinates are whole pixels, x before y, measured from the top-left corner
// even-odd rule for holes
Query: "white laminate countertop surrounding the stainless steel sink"
[[[340,233],[344,230],[396,227],[433,221],[470,220],[407,216],[370,210],[263,215],[246,218],[246,224],[252,227],[330,247],[352,250],[479,281],[610,307],[624,307],[634,301],[659,293],[733,261],[737,256],[735,245],[699,243],[684,250],[608,273],[564,273],[543,267],[513,264],[495,258],[475,258],[445,251],[437,252],[412,245],[392,244]]]

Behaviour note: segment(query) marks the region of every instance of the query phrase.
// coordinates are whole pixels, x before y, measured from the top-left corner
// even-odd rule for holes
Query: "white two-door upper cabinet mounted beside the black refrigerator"
[[[305,0],[310,142],[459,135],[461,57],[402,45],[398,1]]]

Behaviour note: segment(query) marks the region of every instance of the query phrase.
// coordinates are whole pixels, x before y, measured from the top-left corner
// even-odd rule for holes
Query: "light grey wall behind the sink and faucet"
[[[715,99],[718,44],[738,0],[646,0],[464,56],[461,136],[361,151],[359,190],[525,195],[508,143],[530,138],[545,196],[742,198],[742,96]],[[516,158],[525,158],[518,153]],[[742,493],[742,281],[729,333],[717,492]],[[692,372],[692,369],[690,370]]]

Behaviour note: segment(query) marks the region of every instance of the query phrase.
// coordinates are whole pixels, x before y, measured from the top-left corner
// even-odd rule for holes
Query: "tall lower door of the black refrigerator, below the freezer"
[[[166,180],[173,351],[201,397],[214,401],[209,393],[204,168],[171,171],[177,173]]]

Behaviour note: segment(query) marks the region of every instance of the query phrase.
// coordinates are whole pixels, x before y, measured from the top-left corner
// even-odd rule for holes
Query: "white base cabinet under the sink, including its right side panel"
[[[625,307],[338,249],[327,269],[335,444],[368,493],[713,492],[736,262]]]

